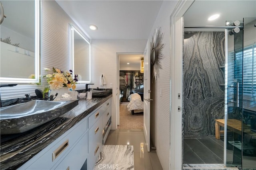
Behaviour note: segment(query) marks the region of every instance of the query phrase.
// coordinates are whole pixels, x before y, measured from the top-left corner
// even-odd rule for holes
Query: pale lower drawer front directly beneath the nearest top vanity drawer
[[[85,133],[82,139],[70,150],[55,170],[80,170],[87,158],[87,144],[88,135]]]

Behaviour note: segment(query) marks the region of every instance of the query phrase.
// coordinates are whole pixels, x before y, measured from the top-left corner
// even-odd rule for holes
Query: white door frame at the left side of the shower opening
[[[182,169],[183,16],[193,2],[179,1],[170,16],[170,170]]]

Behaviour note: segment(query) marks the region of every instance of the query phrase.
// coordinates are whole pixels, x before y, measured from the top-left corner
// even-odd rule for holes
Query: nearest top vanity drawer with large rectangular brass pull
[[[36,157],[24,164],[20,169],[38,170],[51,169],[59,160],[65,156],[76,141],[81,137],[87,129],[87,119],[83,119],[81,123],[74,125],[71,129],[66,131],[58,139],[52,142],[46,150],[39,152]],[[31,165],[30,165],[31,164]]]

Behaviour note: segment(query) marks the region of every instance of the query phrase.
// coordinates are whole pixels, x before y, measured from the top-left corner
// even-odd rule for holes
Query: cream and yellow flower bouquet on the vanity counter
[[[44,68],[44,70],[48,72],[50,69]],[[50,89],[54,90],[54,89],[60,89],[63,87],[72,88],[72,90],[76,89],[76,82],[78,80],[76,78],[77,77],[76,75],[75,75],[75,78],[73,79],[72,70],[64,72],[58,68],[52,67],[52,71],[53,71],[52,74],[47,74],[43,76],[43,78],[46,78]]]

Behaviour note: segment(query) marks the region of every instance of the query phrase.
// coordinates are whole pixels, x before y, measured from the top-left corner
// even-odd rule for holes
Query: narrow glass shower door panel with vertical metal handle
[[[226,165],[234,167],[242,166],[243,29],[238,33],[226,29],[226,45]]]

